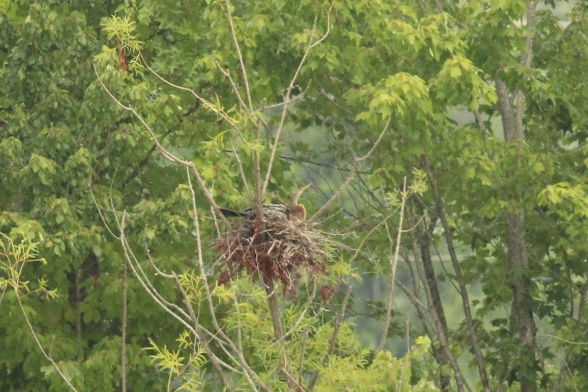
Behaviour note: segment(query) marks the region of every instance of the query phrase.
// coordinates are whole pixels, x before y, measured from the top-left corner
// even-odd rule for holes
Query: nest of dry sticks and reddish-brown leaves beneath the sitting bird
[[[252,279],[282,282],[283,293],[298,294],[302,272],[325,274],[329,239],[308,223],[296,220],[243,220],[220,237],[219,283],[245,271]]]

